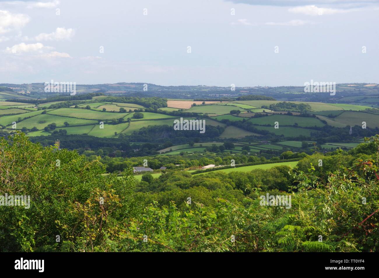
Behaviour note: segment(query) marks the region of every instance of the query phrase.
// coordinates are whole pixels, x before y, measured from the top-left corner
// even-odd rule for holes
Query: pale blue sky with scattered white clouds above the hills
[[[0,83],[379,83],[379,0],[0,0]]]

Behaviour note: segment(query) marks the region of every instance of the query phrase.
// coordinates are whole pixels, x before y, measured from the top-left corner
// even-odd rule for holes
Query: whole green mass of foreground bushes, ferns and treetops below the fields
[[[0,193],[31,198],[29,209],[0,206],[1,251],[378,251],[378,135],[349,152],[315,152],[297,169],[168,171],[141,182],[130,168],[103,176],[100,157],[22,133],[0,149]],[[266,193],[290,195],[291,207],[260,205]]]

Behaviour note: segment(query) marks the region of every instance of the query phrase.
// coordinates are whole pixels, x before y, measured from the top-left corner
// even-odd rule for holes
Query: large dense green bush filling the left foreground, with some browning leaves
[[[22,206],[0,206],[3,252],[110,250],[107,235],[142,213],[142,204],[134,197],[133,179],[102,176],[99,160],[88,163],[77,151],[43,148],[22,133],[9,140],[0,138],[0,149],[0,192],[30,196],[28,209],[24,208],[27,200]],[[6,178],[8,171],[13,179]],[[126,176],[132,176],[131,168],[126,169]],[[12,219],[22,220],[15,225]],[[55,245],[55,235],[69,245]]]

